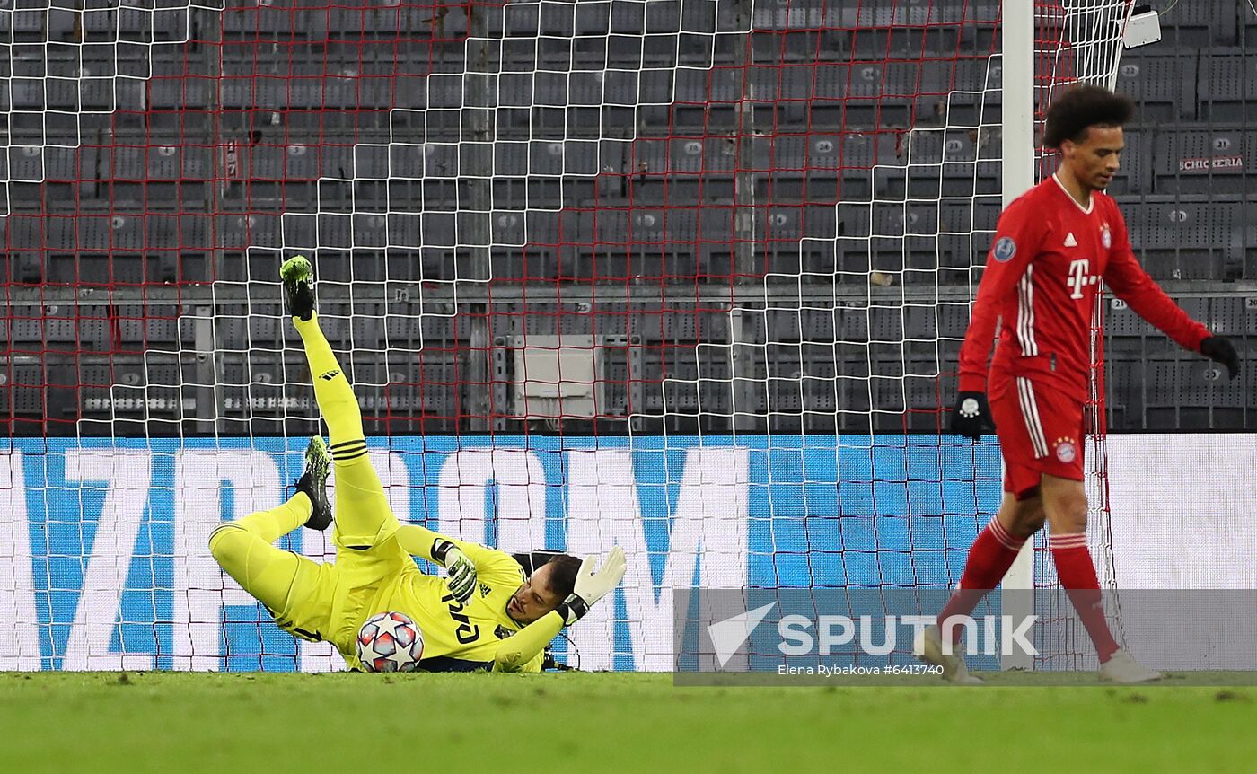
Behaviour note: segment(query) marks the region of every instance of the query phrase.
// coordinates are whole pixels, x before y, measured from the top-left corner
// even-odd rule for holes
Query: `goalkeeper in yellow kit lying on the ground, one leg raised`
[[[282,630],[331,642],[351,668],[362,668],[354,641],[363,622],[398,611],[424,632],[420,668],[539,672],[546,646],[559,630],[620,583],[623,550],[612,549],[597,573],[592,558],[558,554],[525,575],[510,554],[398,523],[367,456],[358,401],[319,329],[309,260],[298,255],[284,261],[280,278],[327,420],[331,454],[323,439],[310,439],[292,499],[215,529],[214,558]],[[326,493],[329,470],[336,475],[334,520]],[[333,526],[334,563],[273,545],[303,525]],[[447,578],[421,573],[412,557],[445,567]]]

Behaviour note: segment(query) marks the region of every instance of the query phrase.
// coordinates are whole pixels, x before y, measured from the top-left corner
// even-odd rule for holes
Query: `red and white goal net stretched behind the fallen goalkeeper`
[[[1111,79],[1128,6],[1036,5],[1038,107]],[[4,4],[0,668],[334,668],[206,548],[319,431],[293,254],[398,518],[626,547],[558,645],[582,667],[671,668],[674,587],[953,586],[999,501],[993,439],[940,435],[999,29],[982,0]]]

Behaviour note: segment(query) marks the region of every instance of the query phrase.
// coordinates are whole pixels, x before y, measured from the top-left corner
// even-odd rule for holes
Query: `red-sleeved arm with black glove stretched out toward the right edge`
[[[1130,236],[1121,211],[1112,207],[1114,221],[1117,224],[1115,249],[1109,256],[1104,281],[1114,295],[1126,302],[1138,314],[1170,337],[1184,349],[1199,352],[1212,361],[1223,363],[1231,378],[1239,372],[1239,356],[1236,348],[1221,335],[1213,335],[1208,328],[1192,319],[1174,299],[1165,295],[1160,285],[1144,271],[1130,248]]]

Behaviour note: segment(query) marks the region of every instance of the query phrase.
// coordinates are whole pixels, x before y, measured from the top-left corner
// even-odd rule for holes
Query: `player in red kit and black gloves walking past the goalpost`
[[[1043,144],[1057,148],[1056,173],[1013,201],[999,217],[987,268],[960,348],[959,396],[952,431],[999,439],[1004,499],[969,549],[959,588],[918,645],[925,661],[955,682],[978,682],[958,642],[967,616],[1008,572],[1026,540],[1048,524],[1048,545],[1065,587],[1100,656],[1100,679],[1160,677],[1120,650],[1105,622],[1100,584],[1086,544],[1082,407],[1090,378],[1091,318],[1099,283],[1182,347],[1239,368],[1234,347],[1193,320],[1153,281],[1130,249],[1116,202],[1104,194],[1117,171],[1129,99],[1076,85],[1047,111]],[[996,337],[991,361],[987,358]]]

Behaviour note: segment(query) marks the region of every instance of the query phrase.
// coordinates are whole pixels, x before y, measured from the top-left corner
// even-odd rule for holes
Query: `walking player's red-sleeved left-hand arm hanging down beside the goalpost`
[[[960,346],[960,395],[952,415],[952,432],[957,435],[977,441],[985,427],[994,427],[987,405],[987,371],[999,309],[1038,253],[1046,230],[1043,214],[1035,212],[1024,197],[1008,205],[999,216],[973,302],[969,329]]]

